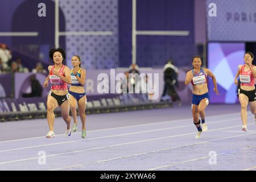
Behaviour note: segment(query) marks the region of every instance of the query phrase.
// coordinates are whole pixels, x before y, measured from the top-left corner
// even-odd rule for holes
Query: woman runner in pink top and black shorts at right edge
[[[253,113],[255,123],[256,118],[256,90],[255,78],[256,67],[253,65],[254,55],[251,52],[246,52],[243,56],[245,64],[238,66],[235,84],[238,85],[237,97],[241,104],[242,131],[247,131],[247,105],[250,103],[250,110]],[[240,84],[237,78],[240,77]]]

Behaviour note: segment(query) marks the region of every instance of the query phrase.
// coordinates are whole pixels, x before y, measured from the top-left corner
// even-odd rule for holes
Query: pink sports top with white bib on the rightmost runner
[[[254,65],[252,65],[254,67]],[[255,84],[255,78],[253,76],[253,73],[250,71],[245,71],[245,64],[242,65],[242,68],[239,72],[240,77],[240,83],[241,86],[254,86]]]

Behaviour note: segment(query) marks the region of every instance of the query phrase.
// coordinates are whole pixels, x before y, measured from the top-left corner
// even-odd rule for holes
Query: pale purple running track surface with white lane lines
[[[0,170],[256,170],[256,125],[249,111],[247,132],[241,130],[240,105],[209,105],[205,121],[208,131],[200,139],[191,105],[88,115],[86,139],[81,123],[65,138],[62,118],[55,120],[52,139],[44,137],[46,119],[2,122]]]

